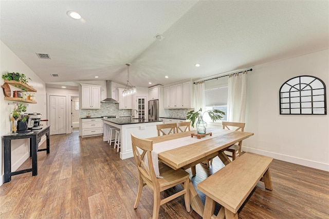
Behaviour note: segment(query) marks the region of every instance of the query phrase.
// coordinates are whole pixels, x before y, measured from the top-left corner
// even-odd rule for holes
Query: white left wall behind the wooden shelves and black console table
[[[18,58],[3,42],[0,41],[0,73],[1,75],[6,72],[20,72],[30,77],[32,80],[29,81],[29,85],[34,87],[37,92],[35,93],[35,98],[37,104],[29,104],[27,108],[27,113],[29,112],[39,112],[42,114],[42,118],[46,118],[46,90],[45,83],[38,77],[34,72],[27,67],[20,58]],[[0,78],[1,85],[4,84],[2,77]],[[14,90],[14,87],[11,87]],[[10,123],[10,113],[13,111],[14,106],[8,105],[12,103],[10,101],[4,100],[4,93],[0,92],[0,135],[6,135],[11,133],[11,123]],[[44,141],[43,138],[42,141]],[[42,143],[42,142],[41,142]],[[1,148],[3,148],[3,140],[1,141]],[[21,166],[24,161],[28,158],[28,140],[13,140],[11,143],[11,164],[12,171],[15,171],[19,166]],[[1,180],[0,185],[3,184],[3,149],[1,150],[0,164],[1,164]]]

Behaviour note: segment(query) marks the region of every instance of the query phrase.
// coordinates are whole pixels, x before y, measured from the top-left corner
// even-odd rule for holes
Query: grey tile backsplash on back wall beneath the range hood
[[[100,109],[80,109],[80,118],[85,118],[86,115],[92,117],[115,115],[115,116],[130,116],[132,110],[121,110],[119,104],[101,103]]]

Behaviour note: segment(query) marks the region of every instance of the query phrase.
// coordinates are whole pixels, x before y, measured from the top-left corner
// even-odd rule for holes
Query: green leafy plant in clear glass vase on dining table
[[[207,123],[203,120],[204,114],[208,112],[209,117],[211,118],[212,122],[217,120],[222,120],[222,115],[225,115],[225,112],[221,110],[207,110],[202,112],[202,108],[198,111],[191,110],[187,113],[186,118],[187,120],[191,121],[191,126],[194,127],[194,123],[196,121],[196,130],[198,134],[206,134],[207,133]]]

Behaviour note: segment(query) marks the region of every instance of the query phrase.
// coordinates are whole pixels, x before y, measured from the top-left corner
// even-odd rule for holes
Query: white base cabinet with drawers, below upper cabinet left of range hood
[[[97,136],[103,134],[103,121],[101,118],[83,118],[82,137]]]

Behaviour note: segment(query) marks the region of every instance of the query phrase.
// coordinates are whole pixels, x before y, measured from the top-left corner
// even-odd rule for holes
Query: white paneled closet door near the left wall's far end
[[[49,96],[50,134],[66,133],[66,96]]]

